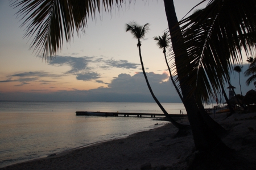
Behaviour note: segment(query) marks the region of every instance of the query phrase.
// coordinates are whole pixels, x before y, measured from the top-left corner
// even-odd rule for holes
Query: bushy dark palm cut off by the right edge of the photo
[[[255,78],[256,78],[256,57],[248,57],[247,58],[248,62],[251,63],[249,65],[249,68],[245,71],[245,76],[250,76],[247,80],[246,80],[246,85],[249,86],[251,82],[253,82],[255,88],[256,88],[256,82],[255,82]]]

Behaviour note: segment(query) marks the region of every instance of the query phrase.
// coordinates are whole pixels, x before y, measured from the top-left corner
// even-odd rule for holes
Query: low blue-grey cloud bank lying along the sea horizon
[[[171,81],[162,82],[166,74],[147,73],[148,79],[156,97],[160,102],[181,102],[171,84]],[[108,85],[108,88],[91,90],[61,90],[58,92],[45,92],[31,90],[30,93],[2,93],[0,100],[16,101],[85,101],[85,102],[154,102],[147,88],[142,73],[130,76],[119,74]]]

